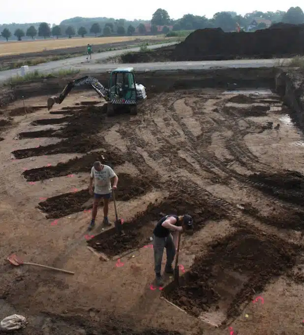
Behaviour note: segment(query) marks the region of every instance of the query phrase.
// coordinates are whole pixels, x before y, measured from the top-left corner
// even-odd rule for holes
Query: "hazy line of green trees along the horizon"
[[[138,28],[140,34],[168,33],[170,30],[196,30],[204,28],[221,28],[225,32],[236,31],[236,27],[246,29],[255,19],[270,20],[274,23],[288,24],[304,24],[304,13],[300,7],[290,7],[287,12],[261,12],[253,11],[244,16],[238,15],[236,12],[217,12],[212,19],[207,19],[206,16],[198,16],[193,14],[185,14],[178,20],[171,19],[165,9],[158,8],[152,15],[151,21],[134,20],[127,21],[124,19],[109,19],[109,18],[71,18],[63,20],[60,25],[51,26],[49,23],[41,22],[35,24],[11,24],[0,25],[1,36],[8,40],[12,36],[10,27],[14,27],[13,34],[17,40],[22,40],[24,36],[36,36],[47,38],[54,36],[68,36],[72,38],[75,35],[84,37],[87,34],[95,36],[111,36],[111,35],[133,35],[135,29]],[[97,21],[97,22],[94,22]],[[99,21],[99,22],[98,22]],[[151,23],[149,32],[146,30],[145,23]],[[29,26],[30,25],[30,26]],[[159,30],[157,26],[161,26]],[[170,28],[171,29],[170,29]],[[2,28],[2,29],[1,29]],[[257,29],[266,28],[266,24],[261,22]]]

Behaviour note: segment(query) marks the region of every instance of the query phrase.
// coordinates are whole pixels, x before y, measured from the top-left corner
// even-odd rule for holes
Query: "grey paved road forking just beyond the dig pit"
[[[148,46],[149,49],[157,49],[163,46],[169,46],[176,43],[164,43]],[[85,56],[69,58],[61,61],[54,61],[44,64],[39,64],[30,67],[30,70],[39,70],[40,72],[50,73],[54,70],[75,68],[81,71],[96,71],[106,72],[116,67],[118,64],[96,64],[93,63],[96,59],[107,59],[109,57],[119,56],[125,52],[139,51],[139,47],[123,50],[107,51],[100,54],[94,54],[93,60],[88,63]],[[288,61],[281,60],[281,61]],[[178,70],[178,69],[217,69],[225,67],[273,67],[277,64],[274,59],[260,59],[260,60],[237,60],[237,61],[202,61],[202,62],[159,62],[159,63],[137,63],[137,64],[120,64],[120,67],[134,67],[137,71],[154,71],[154,70]],[[17,69],[0,71],[0,82],[9,79],[17,74]]]

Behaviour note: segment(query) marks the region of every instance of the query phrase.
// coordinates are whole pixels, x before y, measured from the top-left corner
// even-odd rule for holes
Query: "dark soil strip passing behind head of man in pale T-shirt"
[[[27,181],[38,181],[54,177],[62,177],[75,172],[90,172],[95,161],[100,161],[110,167],[125,162],[119,154],[114,152],[96,151],[82,157],[76,157],[66,163],[58,163],[54,167],[37,167],[23,172]]]

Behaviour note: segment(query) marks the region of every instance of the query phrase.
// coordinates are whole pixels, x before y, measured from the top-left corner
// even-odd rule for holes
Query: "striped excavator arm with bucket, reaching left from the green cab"
[[[81,85],[91,85],[91,87],[99,94],[100,97],[105,98],[107,100],[109,92],[108,89],[106,89],[103,85],[101,85],[96,78],[85,76],[69,82],[64,87],[59,97],[53,96],[49,98],[48,110],[50,110],[53,107],[54,103],[61,103],[65,99],[65,97],[71,92],[73,87]]]

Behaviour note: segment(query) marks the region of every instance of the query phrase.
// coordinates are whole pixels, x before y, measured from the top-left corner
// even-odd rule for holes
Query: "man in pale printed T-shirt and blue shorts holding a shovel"
[[[113,186],[111,187],[111,178],[114,178]],[[93,180],[94,180],[94,192],[93,192]],[[111,226],[108,219],[109,211],[109,200],[111,198],[111,191],[117,189],[118,176],[112,170],[111,167],[101,164],[101,162],[95,162],[91,168],[89,192],[94,195],[92,219],[89,226],[89,230],[95,227],[95,218],[97,215],[97,208],[100,199],[103,199],[103,224],[105,226]]]

